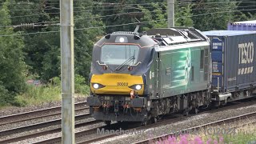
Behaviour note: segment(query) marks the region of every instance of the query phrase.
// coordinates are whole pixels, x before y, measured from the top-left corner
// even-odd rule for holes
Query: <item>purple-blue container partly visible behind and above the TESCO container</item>
[[[256,30],[256,20],[229,23],[227,30]]]

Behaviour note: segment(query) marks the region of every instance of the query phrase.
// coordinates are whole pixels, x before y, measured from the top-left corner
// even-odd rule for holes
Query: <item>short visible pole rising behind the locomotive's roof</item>
[[[168,28],[174,27],[174,0],[167,0]]]

